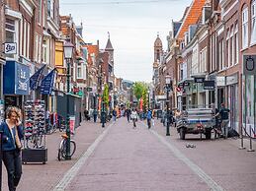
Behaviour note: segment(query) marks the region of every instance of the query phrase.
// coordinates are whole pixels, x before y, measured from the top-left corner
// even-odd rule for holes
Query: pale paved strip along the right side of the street
[[[144,123],[143,123],[144,124]],[[145,124],[144,124],[145,125]],[[224,189],[219,186],[213,178],[211,178],[201,167],[199,167],[196,163],[188,159],[185,155],[183,155],[175,146],[168,143],[161,135],[159,135],[156,131],[150,130],[164,145],[166,145],[172,153],[178,158],[184,161],[198,176],[200,176],[211,188],[213,191],[224,191]]]

